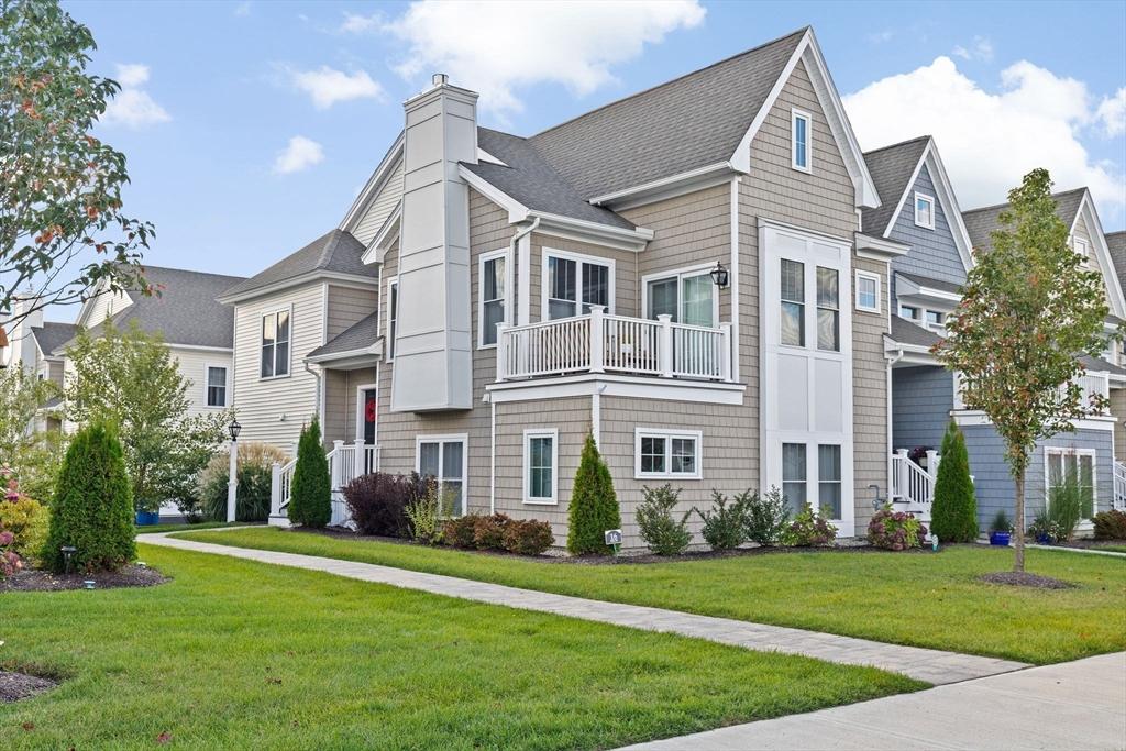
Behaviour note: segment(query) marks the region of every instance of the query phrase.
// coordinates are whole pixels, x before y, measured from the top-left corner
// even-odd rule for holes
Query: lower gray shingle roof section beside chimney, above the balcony
[[[570,182],[547,163],[527,138],[479,127],[477,145],[508,167],[490,162],[465,164],[465,167],[528,208],[587,222],[633,229],[633,223],[614,212],[588,203]]]

